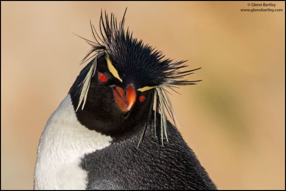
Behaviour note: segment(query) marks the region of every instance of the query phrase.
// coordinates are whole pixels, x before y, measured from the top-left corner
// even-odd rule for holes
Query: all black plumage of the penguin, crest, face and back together
[[[175,124],[166,120],[169,112],[175,122],[165,89],[195,84],[183,79],[194,70],[181,71],[185,61],[165,59],[160,51],[125,32],[124,20],[125,14],[117,25],[113,14],[109,19],[101,13],[100,35],[91,24],[95,42],[85,39],[92,50],[83,59],[91,62],[69,92],[79,122],[113,139],[110,146],[82,159],[80,166],[88,172],[87,189],[215,190]],[[114,78],[107,59],[122,81]],[[100,82],[100,74],[108,80]],[[90,81],[85,80],[88,75]],[[86,83],[88,86],[84,86]],[[118,108],[112,89],[121,87],[126,91],[130,84],[136,90],[136,102],[125,112]],[[137,90],[145,86],[154,88]],[[82,95],[84,87],[86,95]],[[145,96],[143,102],[138,101],[139,96]]]

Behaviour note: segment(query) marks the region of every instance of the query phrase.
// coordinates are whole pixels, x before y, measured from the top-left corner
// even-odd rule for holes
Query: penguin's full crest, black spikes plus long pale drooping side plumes
[[[127,31],[125,31],[124,23],[126,11],[127,9],[119,24],[117,24],[117,19],[112,13],[109,18],[106,12],[104,14],[101,12],[99,24],[100,33],[96,32],[94,25],[90,22],[95,42],[83,38],[92,46],[92,49],[82,59],[81,63],[90,59],[94,60],[84,80],[79,84],[81,88],[79,92],[79,104],[76,111],[78,111],[80,105],[81,110],[84,109],[90,81],[95,74],[97,59],[105,55],[107,63],[110,64],[109,68],[112,67],[112,74],[123,83],[123,86],[131,81],[135,81],[134,88],[136,90],[141,92],[152,91],[153,98],[148,118],[139,143],[143,140],[148,124],[153,123],[155,128],[154,132],[157,132],[156,127],[160,128],[161,143],[164,145],[163,135],[165,135],[166,141],[168,142],[166,128],[167,114],[174,121],[174,125],[178,124],[167,94],[167,89],[175,91],[174,88],[177,86],[192,85],[196,84],[195,82],[197,81],[201,81],[184,80],[185,76],[192,74],[191,72],[200,68],[181,71],[180,69],[187,67],[187,65],[184,64],[186,61],[174,62],[172,59],[167,59],[161,51],[133,37],[132,32],[130,33],[128,28]],[[155,114],[154,118],[151,118],[150,116],[152,116],[151,113],[153,109]],[[157,124],[156,112],[161,114],[159,124]]]

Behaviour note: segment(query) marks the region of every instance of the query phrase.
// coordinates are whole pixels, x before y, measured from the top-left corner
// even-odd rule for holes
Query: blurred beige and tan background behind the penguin
[[[72,32],[92,39],[89,19],[126,7],[134,36],[202,67],[171,98],[218,188],[285,189],[285,2],[247,3],[1,2],[1,189],[32,189],[41,132],[90,49]]]

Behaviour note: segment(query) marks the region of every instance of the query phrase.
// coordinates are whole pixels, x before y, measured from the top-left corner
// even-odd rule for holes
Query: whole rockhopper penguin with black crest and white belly
[[[199,68],[182,71],[185,61],[166,59],[124,21],[101,13],[99,32],[91,24],[90,62],[48,119],[34,189],[216,190],[177,130],[168,97],[195,84],[183,77]]]

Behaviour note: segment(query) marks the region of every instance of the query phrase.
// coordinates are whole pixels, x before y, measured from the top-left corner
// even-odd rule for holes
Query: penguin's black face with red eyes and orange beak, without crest
[[[76,112],[78,120],[89,129],[123,138],[145,125],[151,107],[152,90],[141,92],[137,90],[136,81],[122,81],[106,55],[95,59],[96,70],[90,82],[84,109],[79,108]],[[71,88],[75,110],[79,103],[79,94],[76,94],[78,84],[91,63],[82,70]]]

